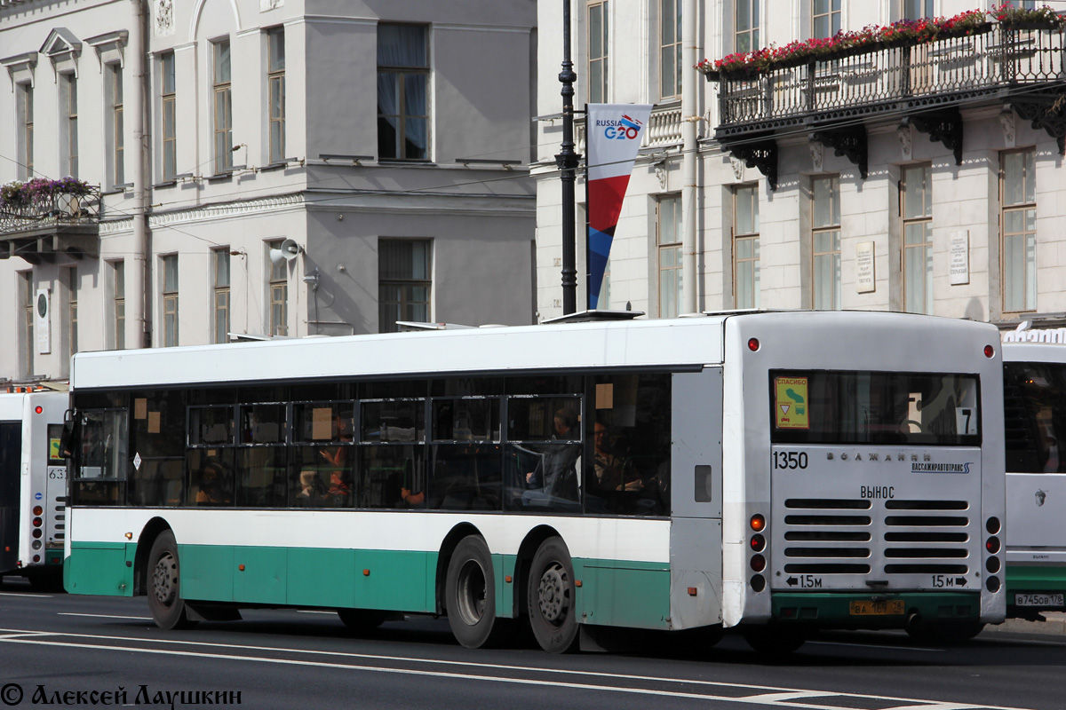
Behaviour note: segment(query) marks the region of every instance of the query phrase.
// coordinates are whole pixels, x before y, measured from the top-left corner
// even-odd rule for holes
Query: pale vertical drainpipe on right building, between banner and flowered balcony
[[[699,310],[696,278],[696,161],[699,146],[696,143],[696,86],[698,72],[693,69],[696,56],[696,21],[699,18],[695,0],[681,3],[681,303],[678,313],[697,313]]]

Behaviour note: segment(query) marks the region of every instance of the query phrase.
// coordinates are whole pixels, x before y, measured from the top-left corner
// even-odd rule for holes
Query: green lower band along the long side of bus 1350
[[[135,550],[133,543],[72,543],[64,567],[67,590],[130,596]],[[178,545],[185,599],[249,606],[433,613],[437,558],[410,550]],[[497,614],[504,618],[524,611],[517,608],[516,565],[514,555],[492,556]],[[574,572],[583,623],[669,627],[669,565],[576,559]]]

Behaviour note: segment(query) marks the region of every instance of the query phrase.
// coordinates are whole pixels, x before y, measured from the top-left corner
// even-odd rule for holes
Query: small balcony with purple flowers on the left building
[[[99,187],[70,178],[0,186],[0,259],[98,255],[100,204]]]

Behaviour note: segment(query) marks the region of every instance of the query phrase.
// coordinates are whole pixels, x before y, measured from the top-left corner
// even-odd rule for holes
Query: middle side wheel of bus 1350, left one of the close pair
[[[501,625],[496,618],[496,574],[488,545],[479,535],[459,541],[448,562],[445,609],[455,640],[467,648],[494,645]]]

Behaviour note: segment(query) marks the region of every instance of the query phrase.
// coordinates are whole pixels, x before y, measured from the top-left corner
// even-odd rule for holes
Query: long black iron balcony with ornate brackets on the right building
[[[866,123],[899,118],[962,162],[959,110],[1008,105],[1066,148],[1062,23],[984,23],[962,36],[870,42],[796,60],[705,67],[718,82],[715,138],[776,183],[776,136],[807,133],[866,177]]]

